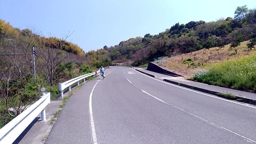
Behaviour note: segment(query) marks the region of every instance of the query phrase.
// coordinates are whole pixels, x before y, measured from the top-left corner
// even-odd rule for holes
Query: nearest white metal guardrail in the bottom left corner
[[[44,121],[45,107],[50,103],[50,95],[50,92],[43,92],[43,96],[39,100],[2,127],[0,129],[0,143],[13,143],[40,112],[41,119]]]

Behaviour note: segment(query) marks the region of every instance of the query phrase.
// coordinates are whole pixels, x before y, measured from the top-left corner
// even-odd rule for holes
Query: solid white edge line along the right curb
[[[132,69],[132,70],[134,70],[134,69]],[[136,70],[134,70],[134,71],[136,71]],[[136,71],[136,72],[140,73],[139,71]],[[141,74],[141,75],[144,75],[144,76],[147,76],[147,75],[142,74],[142,73],[140,73],[140,74]],[[147,77],[152,78],[152,79],[154,79],[154,80],[156,80],[156,81],[159,81],[159,82],[165,83],[165,84],[169,84],[169,83],[167,83],[167,82],[164,82],[164,81],[161,81],[161,80],[157,80],[157,79],[155,79],[155,78],[153,78],[153,77],[150,77],[150,76],[147,76]],[[190,92],[196,92],[196,91],[193,91],[193,90],[190,90],[190,89],[187,89],[187,88],[184,88],[184,87],[180,87],[180,86],[177,86],[177,85],[173,85],[173,84],[169,84],[169,85],[172,85],[172,86],[175,86],[175,87],[178,87],[178,88],[184,89],[184,90],[188,90],[188,91],[190,91]],[[236,103],[236,104],[239,104],[239,105],[242,105],[242,106],[246,106],[246,107],[250,107],[250,108],[255,108],[255,109],[256,109],[256,107],[253,107],[253,106],[250,106],[250,105],[245,105],[245,104],[238,103],[238,102],[235,102],[235,101],[230,101],[230,100],[226,100],[226,99],[218,98],[218,97],[211,96],[211,95],[208,95],[208,94],[205,94],[205,93],[201,93],[201,92],[196,92],[196,93],[200,93],[200,94],[203,94],[203,95],[206,95],[206,96],[209,96],[209,97],[215,98],[215,99],[224,100],[224,101],[228,101],[228,102],[232,102],[232,103]]]

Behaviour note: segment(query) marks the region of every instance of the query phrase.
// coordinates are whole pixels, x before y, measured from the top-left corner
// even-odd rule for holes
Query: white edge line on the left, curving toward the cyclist
[[[115,68],[114,68],[115,69]],[[113,70],[114,70],[113,69]],[[113,71],[112,70],[112,71]],[[111,72],[112,72],[111,71]],[[110,74],[111,72],[109,72],[108,74]],[[108,75],[107,74],[107,75]],[[106,76],[107,76],[106,75]],[[101,78],[102,79],[102,78]],[[100,79],[100,80],[101,80]],[[96,87],[96,85],[100,82],[100,80],[93,86],[92,88],[92,92],[90,94],[90,100],[89,100],[89,113],[90,113],[90,123],[91,123],[91,130],[92,130],[92,140],[94,144],[98,144],[98,140],[97,140],[97,136],[96,136],[96,131],[95,131],[95,125],[94,125],[94,120],[93,120],[93,113],[92,113],[92,93],[94,91],[94,88]]]

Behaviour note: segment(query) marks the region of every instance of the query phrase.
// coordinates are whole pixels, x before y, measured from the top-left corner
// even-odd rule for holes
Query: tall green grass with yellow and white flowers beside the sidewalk
[[[195,72],[193,78],[197,82],[256,91],[256,54],[207,66]]]

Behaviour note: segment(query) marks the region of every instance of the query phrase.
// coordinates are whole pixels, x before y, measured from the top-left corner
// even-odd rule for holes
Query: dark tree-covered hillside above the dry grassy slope
[[[223,47],[255,37],[256,9],[237,7],[234,18],[228,17],[212,22],[179,22],[156,35],[130,38],[115,46],[104,46],[113,63],[139,66],[160,56],[173,53],[190,53],[212,47]],[[220,16],[221,17],[221,16]]]

